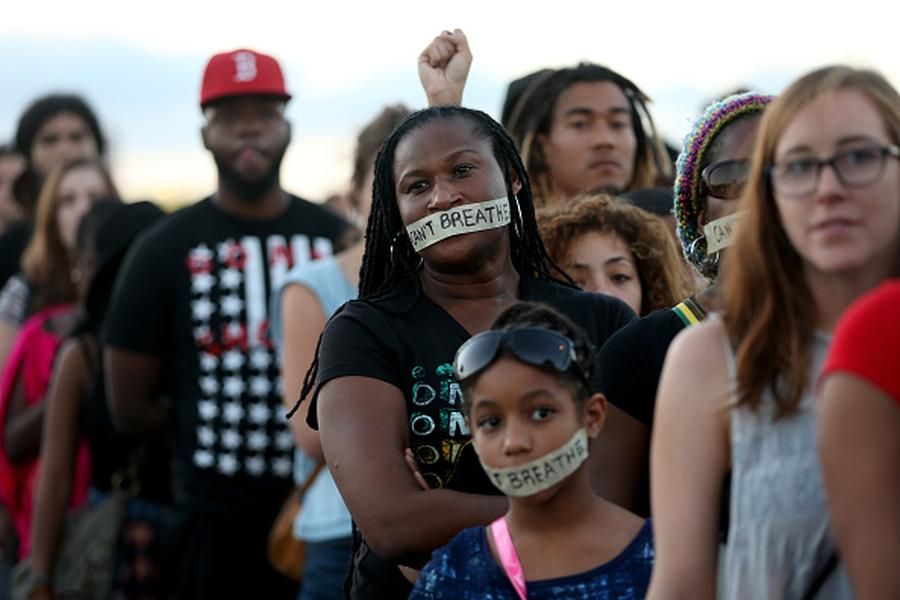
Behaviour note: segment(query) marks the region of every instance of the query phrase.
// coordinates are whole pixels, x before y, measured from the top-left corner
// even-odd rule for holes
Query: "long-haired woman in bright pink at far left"
[[[20,556],[30,549],[31,511],[37,477],[44,394],[56,351],[77,322],[74,302],[82,274],[76,269],[75,235],[82,217],[103,198],[116,197],[109,172],[94,159],[57,167],[38,200],[35,233],[22,258],[23,272],[37,285],[37,312],[22,326],[0,381],[0,496],[13,515]],[[82,450],[85,448],[82,446]],[[72,505],[85,497],[86,451],[76,462]]]

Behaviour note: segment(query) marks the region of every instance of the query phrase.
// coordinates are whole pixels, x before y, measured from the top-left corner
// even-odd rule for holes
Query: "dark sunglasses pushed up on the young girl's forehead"
[[[575,344],[566,336],[541,327],[523,327],[512,331],[484,331],[469,338],[453,361],[453,374],[463,382],[485,370],[502,348],[518,360],[536,367],[551,367],[559,373],[573,371],[587,386],[587,374],[578,364]],[[589,386],[588,386],[589,387]]]

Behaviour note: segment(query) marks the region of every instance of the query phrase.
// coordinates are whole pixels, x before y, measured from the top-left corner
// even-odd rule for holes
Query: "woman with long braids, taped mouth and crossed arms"
[[[453,377],[463,342],[518,299],[555,307],[594,343],[634,317],[621,301],[557,277],[565,276],[538,235],[528,175],[497,122],[434,107],[385,140],[359,299],[329,322],[301,393],[311,394],[311,425],[358,526],[351,597],[406,597],[395,565],[421,566],[462,529],[506,510],[472,450]],[[625,427],[610,437],[623,438]],[[626,453],[620,445],[592,455],[608,498],[626,496],[630,482],[604,456],[622,464]]]

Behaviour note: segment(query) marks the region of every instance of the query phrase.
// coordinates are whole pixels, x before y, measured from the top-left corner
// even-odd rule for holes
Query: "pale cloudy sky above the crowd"
[[[381,106],[424,103],[416,59],[442,29],[462,28],[475,55],[467,105],[497,116],[511,79],[591,60],[651,96],[672,142],[706,100],[738,85],[777,93],[833,62],[876,68],[900,85],[900,3],[888,0],[5,4],[0,140],[31,98],[77,91],[102,118],[124,193],[169,202],[213,187],[198,133],[200,77],[209,56],[237,47],[282,62],[294,94],[283,180],[311,199],[346,185],[354,132]]]

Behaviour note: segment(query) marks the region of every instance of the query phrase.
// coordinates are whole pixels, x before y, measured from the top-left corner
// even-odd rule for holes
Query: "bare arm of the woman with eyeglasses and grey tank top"
[[[648,598],[716,597],[719,501],[729,469],[724,326],[707,321],[669,348],[656,400],[650,498],[656,563]]]

